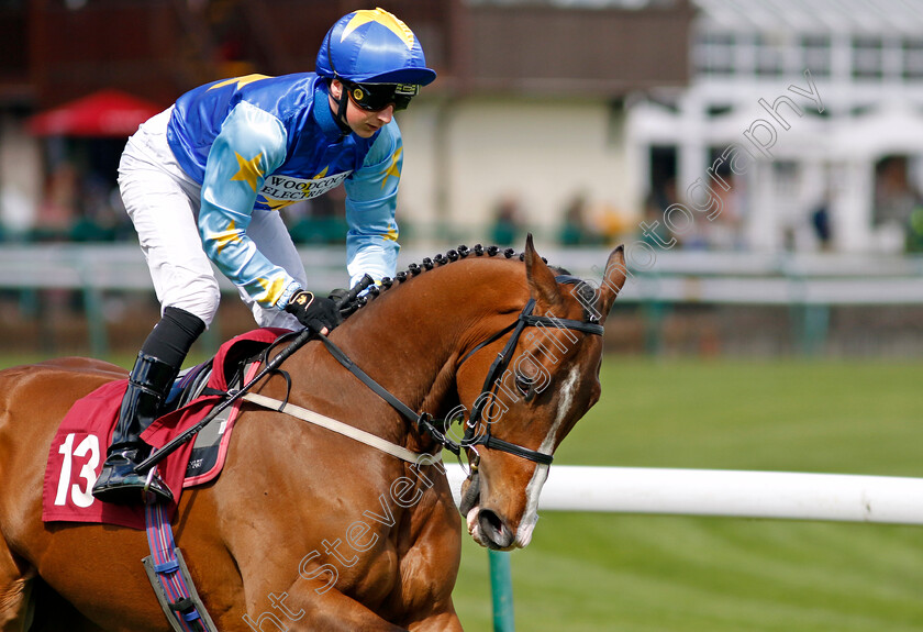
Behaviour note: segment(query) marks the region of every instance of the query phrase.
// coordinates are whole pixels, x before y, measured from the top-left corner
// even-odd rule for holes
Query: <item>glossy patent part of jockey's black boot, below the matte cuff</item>
[[[169,392],[179,368],[156,357],[137,355],[129,389],[122,399],[119,423],[112,434],[102,472],[93,485],[93,496],[105,502],[129,503],[142,499],[147,475],[134,473],[135,466],[147,458],[151,446],[141,441],[141,433],[159,417],[160,406]],[[148,491],[158,500],[173,500],[173,492],[158,476],[151,480]]]

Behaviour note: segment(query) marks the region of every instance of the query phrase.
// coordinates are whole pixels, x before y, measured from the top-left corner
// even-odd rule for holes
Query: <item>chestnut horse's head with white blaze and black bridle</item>
[[[462,401],[474,402],[463,442],[472,473],[462,488],[462,513],[478,543],[500,550],[531,541],[552,455],[599,400],[601,323],[625,281],[621,246],[598,289],[556,275],[531,236],[523,258],[523,311],[471,350],[457,376]]]

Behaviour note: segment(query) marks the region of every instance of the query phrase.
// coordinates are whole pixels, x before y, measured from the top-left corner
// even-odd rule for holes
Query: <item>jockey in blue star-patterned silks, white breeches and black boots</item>
[[[279,209],[344,185],[351,285],[394,275],[403,145],[393,113],[435,77],[403,22],[382,9],[355,11],[327,32],[316,73],[201,86],[129,140],[119,187],[162,318],[132,368],[94,497],[142,499],[146,480],[133,470],[151,448],[140,435],[218,311],[212,264],[259,326],[326,334],[341,322],[333,299],[345,290],[305,289]],[[148,490],[173,499],[156,477]]]

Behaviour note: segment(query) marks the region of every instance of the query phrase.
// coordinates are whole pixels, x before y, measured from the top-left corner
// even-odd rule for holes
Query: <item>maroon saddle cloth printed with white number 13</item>
[[[285,333],[289,333],[288,330],[258,329],[224,343],[214,357],[208,386],[222,391],[227,390],[225,374],[233,370],[231,367],[234,363],[253,355],[257,345],[267,346]],[[255,369],[256,366],[253,367],[254,373]],[[247,375],[246,379],[251,377],[252,375]],[[127,384],[127,379],[104,384],[77,400],[65,415],[48,451],[42,489],[43,521],[92,522],[144,529],[144,507],[140,499],[137,506],[120,506],[102,502],[91,495],[93,483],[105,461],[105,451],[119,419],[119,409]],[[152,423],[141,437],[154,448],[163,447],[199,422],[221,400],[220,395],[199,397]],[[193,441],[186,442],[157,465],[160,477],[174,492],[175,502],[168,508],[170,517],[184,488],[208,483],[221,473],[240,406],[241,400],[237,400],[224,422],[219,456],[208,472],[197,472],[196,476],[189,478],[186,476]]]

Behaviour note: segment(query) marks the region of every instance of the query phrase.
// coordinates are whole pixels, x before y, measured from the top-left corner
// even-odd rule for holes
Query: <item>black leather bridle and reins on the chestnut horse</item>
[[[569,275],[560,275],[555,277],[557,282],[568,284],[568,285],[578,285],[583,282],[581,279],[577,277],[572,277]],[[487,372],[487,377],[483,381],[483,387],[481,387],[481,392],[475,400],[475,406],[471,410],[470,415],[468,417],[468,421],[465,425],[465,435],[462,439],[460,443],[456,443],[451,437],[446,436],[447,425],[451,423],[451,420],[443,420],[442,423],[434,422],[433,417],[427,412],[416,413],[413,409],[409,406],[403,403],[397,397],[394,397],[391,392],[389,392],[385,387],[379,385],[371,377],[368,376],[362,368],[356,366],[349,357],[343,353],[343,351],[336,346],[327,336],[319,336],[321,342],[324,343],[327,351],[336,358],[340,364],[342,364],[346,369],[348,369],[353,375],[355,375],[363,384],[365,384],[368,388],[370,388],[376,395],[381,397],[385,401],[391,404],[398,412],[400,412],[404,418],[410,420],[411,422],[415,423],[416,426],[427,433],[433,440],[455,454],[456,456],[460,456],[463,448],[471,448],[477,453],[476,446],[483,445],[489,450],[498,450],[500,452],[507,452],[509,454],[513,454],[515,456],[533,461],[538,464],[543,465],[551,465],[554,457],[551,454],[545,454],[543,452],[538,452],[536,450],[530,450],[522,445],[518,445],[515,443],[510,443],[508,441],[503,441],[502,439],[497,439],[492,435],[490,431],[491,423],[481,424],[481,417],[483,415],[485,407],[487,406],[488,400],[493,400],[496,397],[496,391],[498,388],[498,384],[500,382],[501,377],[507,372],[507,368],[512,361],[513,351],[519,343],[519,339],[522,335],[522,332],[527,326],[554,326],[557,329],[567,329],[571,331],[578,331],[586,334],[591,335],[602,335],[603,328],[596,319],[594,315],[588,314],[586,318],[587,320],[574,320],[574,319],[558,319],[551,315],[535,315],[532,311],[535,309],[535,299],[530,299],[529,302],[525,303],[525,307],[520,312],[516,320],[500,330],[499,332],[494,333],[486,341],[481,342],[470,352],[468,352],[465,357],[462,358],[462,362],[458,363],[460,367],[462,364],[465,363],[469,357],[474,354],[482,350],[483,347],[490,345],[493,342],[497,342],[505,334],[512,331],[512,335],[510,340],[507,341],[507,344],[503,346],[503,350],[497,354],[493,363],[490,365],[490,368]],[[493,397],[488,397],[493,396]],[[478,435],[475,435],[476,430],[483,425],[486,428],[485,432]],[[442,426],[442,428],[440,428]],[[479,459],[479,456],[476,455],[476,459]]]

